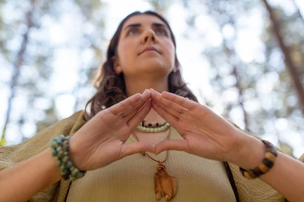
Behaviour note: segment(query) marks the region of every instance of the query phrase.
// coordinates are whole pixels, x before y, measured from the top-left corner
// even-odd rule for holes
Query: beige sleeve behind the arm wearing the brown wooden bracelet
[[[232,123],[237,128],[236,124]],[[240,129],[240,128],[239,128]],[[244,131],[244,130],[243,130]],[[244,131],[248,135],[261,139],[248,131]],[[286,154],[281,149],[277,148],[282,153]],[[286,154],[288,155],[288,154]],[[298,159],[298,161],[304,163],[304,154]],[[238,194],[241,202],[285,202],[284,196],[278,193],[272,186],[257,178],[250,180],[242,176],[237,165],[229,163],[231,168]]]

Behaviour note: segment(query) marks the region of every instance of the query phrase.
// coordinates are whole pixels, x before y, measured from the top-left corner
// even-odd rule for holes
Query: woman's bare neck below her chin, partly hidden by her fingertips
[[[155,78],[126,78],[126,91],[127,96],[131,96],[136,93],[143,93],[145,89],[153,88],[154,90],[162,93],[163,91],[169,91],[168,77],[160,78],[156,80]],[[148,122],[164,122],[165,120],[158,115],[153,109],[145,117]]]

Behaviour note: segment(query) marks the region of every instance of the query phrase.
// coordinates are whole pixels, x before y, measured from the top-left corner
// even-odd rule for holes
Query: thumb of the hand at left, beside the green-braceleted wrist
[[[155,146],[147,142],[134,142],[131,144],[124,144],[122,146],[122,158],[136,153],[141,153],[143,151],[149,151],[155,154]]]

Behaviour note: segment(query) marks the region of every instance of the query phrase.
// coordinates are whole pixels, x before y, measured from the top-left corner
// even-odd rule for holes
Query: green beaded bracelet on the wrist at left
[[[75,168],[71,161],[69,161],[69,139],[69,135],[54,137],[50,143],[50,147],[52,148],[52,156],[56,159],[57,166],[61,169],[61,177],[64,180],[69,179],[74,181],[82,178],[86,174],[86,171],[80,171],[78,168]]]

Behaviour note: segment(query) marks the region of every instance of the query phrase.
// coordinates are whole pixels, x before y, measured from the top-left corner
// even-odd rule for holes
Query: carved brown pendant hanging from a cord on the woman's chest
[[[159,200],[162,196],[166,195],[166,200],[171,200],[177,189],[176,179],[167,173],[163,162],[159,162],[157,172],[154,175],[154,191],[156,198]]]

